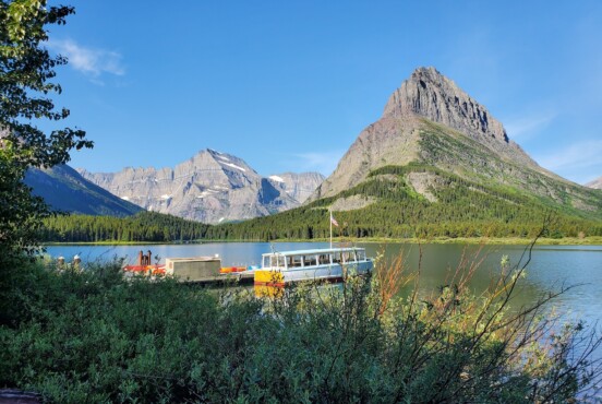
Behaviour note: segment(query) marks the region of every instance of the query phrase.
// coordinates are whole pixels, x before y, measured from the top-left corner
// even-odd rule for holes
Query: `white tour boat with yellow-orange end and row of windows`
[[[257,286],[278,286],[301,281],[342,282],[347,275],[372,271],[374,262],[359,247],[279,251],[262,254],[254,271]]]

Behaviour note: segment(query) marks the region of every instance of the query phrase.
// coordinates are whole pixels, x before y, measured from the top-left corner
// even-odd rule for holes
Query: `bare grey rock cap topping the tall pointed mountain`
[[[433,67],[414,70],[385,106],[384,116],[408,115],[444,124],[493,148],[509,143],[502,123]]]

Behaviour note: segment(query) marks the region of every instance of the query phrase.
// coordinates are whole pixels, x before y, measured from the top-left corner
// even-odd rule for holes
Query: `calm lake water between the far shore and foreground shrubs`
[[[388,243],[361,245],[369,257],[384,252],[392,260],[404,253],[406,268],[417,271],[420,248],[416,245]],[[67,261],[79,254],[84,262],[110,260],[123,257],[134,263],[137,252],[150,250],[153,257],[165,262],[170,257],[197,257],[219,254],[224,266],[258,265],[265,252],[306,248],[328,247],[326,242],[213,242],[202,245],[153,245],[153,246],[52,246],[48,253],[63,256]],[[450,274],[458,266],[462,256],[471,257],[477,246],[425,245],[422,246],[420,288],[434,290],[450,283]],[[510,264],[517,264],[525,251],[519,246],[493,246],[481,251],[483,262],[479,266],[470,287],[475,292],[487,287],[493,274],[499,273],[503,256],[508,256]],[[155,261],[155,259],[154,259]],[[514,305],[520,306],[535,300],[542,294],[557,290],[563,285],[579,285],[556,299],[557,311],[571,318],[579,318],[589,324],[602,324],[602,246],[542,246],[532,251],[527,268],[527,277],[517,294]]]

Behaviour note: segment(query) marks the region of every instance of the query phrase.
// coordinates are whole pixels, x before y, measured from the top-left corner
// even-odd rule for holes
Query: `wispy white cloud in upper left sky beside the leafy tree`
[[[48,43],[50,49],[69,59],[73,69],[97,80],[101,74],[125,74],[121,55],[105,49],[86,48],[72,39],[52,39]]]

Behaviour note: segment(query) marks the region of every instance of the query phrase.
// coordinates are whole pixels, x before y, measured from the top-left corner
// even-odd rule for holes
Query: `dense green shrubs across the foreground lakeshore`
[[[0,387],[84,402],[567,402],[600,376],[600,341],[554,334],[550,296],[508,311],[522,270],[481,296],[463,260],[449,286],[396,298],[402,260],[339,288],[276,298],[173,280],[124,282],[120,265],[15,275],[0,328]],[[546,335],[546,337],[543,337]],[[539,340],[539,342],[538,342]],[[585,345],[583,345],[585,344]],[[580,395],[580,399],[583,399]]]

